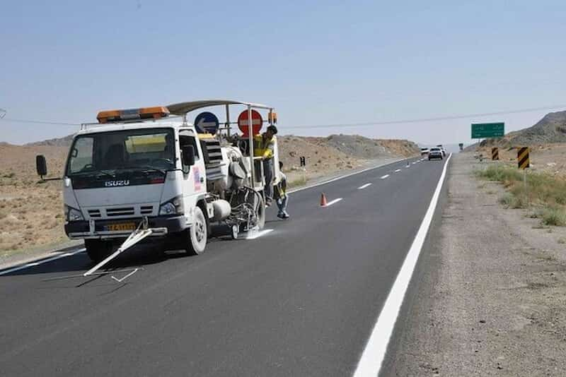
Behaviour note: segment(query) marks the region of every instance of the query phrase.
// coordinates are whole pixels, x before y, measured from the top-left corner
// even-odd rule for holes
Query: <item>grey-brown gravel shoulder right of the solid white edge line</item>
[[[479,167],[451,160],[384,376],[566,376],[566,229],[502,208]]]

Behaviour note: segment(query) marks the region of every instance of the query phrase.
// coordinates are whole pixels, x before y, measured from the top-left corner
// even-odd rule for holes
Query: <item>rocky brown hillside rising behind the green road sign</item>
[[[566,143],[566,111],[548,113],[534,126],[509,132],[502,138],[483,140],[480,146],[512,147],[546,143]],[[475,146],[477,145],[470,145],[468,148],[475,148]]]

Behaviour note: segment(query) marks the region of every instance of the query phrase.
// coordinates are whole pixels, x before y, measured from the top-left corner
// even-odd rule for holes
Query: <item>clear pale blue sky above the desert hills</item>
[[[100,109],[234,98],[272,104],[282,133],[470,141],[470,122],[289,128],[566,104],[566,2],[9,1],[6,119],[96,121]],[[0,121],[0,140],[74,126]]]

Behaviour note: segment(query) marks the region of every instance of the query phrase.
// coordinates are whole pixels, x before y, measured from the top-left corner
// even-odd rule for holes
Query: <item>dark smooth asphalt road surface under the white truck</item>
[[[122,283],[48,280],[88,270],[85,253],[0,275],[1,374],[350,376],[443,166],[396,162],[293,193],[291,220],[270,208],[272,232],[201,256],[132,249],[114,266],[144,269]],[[321,192],[342,201],[321,208]]]

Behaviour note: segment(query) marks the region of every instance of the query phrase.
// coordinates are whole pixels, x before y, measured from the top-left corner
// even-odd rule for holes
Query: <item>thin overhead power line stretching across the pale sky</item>
[[[557,104],[553,106],[531,107],[526,109],[513,109],[498,112],[483,112],[475,114],[459,114],[448,116],[433,116],[430,118],[414,118],[414,119],[401,119],[391,121],[367,121],[360,123],[335,123],[335,124],[305,124],[302,126],[285,126],[284,128],[330,128],[330,127],[363,127],[363,126],[380,126],[385,124],[404,124],[404,123],[424,123],[428,121],[447,121],[453,119],[466,119],[466,118],[479,118],[482,116],[504,115],[504,114],[519,114],[524,112],[538,112],[541,110],[555,110],[566,109],[566,104]],[[175,116],[178,117],[178,116]],[[33,123],[33,124],[52,124],[54,126],[80,126],[79,123],[70,123],[67,121],[42,121],[34,119],[13,119],[13,118],[0,118],[1,121],[13,121],[16,123]]]

